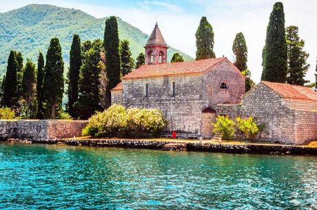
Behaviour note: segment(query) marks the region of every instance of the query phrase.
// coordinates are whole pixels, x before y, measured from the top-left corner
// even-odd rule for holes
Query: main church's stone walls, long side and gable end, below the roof
[[[223,82],[228,89],[220,88]],[[202,74],[123,80],[122,105],[161,109],[169,121],[168,131],[201,135],[203,109],[216,103],[238,103],[244,84],[245,78],[224,59]]]

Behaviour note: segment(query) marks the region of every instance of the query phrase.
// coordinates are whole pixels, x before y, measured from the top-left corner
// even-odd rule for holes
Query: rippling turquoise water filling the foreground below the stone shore
[[[317,157],[3,143],[0,209],[317,209]]]

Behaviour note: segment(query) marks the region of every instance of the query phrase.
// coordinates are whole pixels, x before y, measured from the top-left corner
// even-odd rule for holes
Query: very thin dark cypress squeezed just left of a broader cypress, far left
[[[44,56],[39,52],[37,57],[37,118],[43,119],[44,109],[43,109],[43,79],[44,79]]]

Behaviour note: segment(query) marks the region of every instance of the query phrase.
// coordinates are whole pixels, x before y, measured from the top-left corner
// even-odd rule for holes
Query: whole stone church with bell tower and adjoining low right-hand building
[[[161,109],[169,121],[167,131],[187,136],[212,137],[216,116],[227,115],[254,116],[264,123],[260,140],[295,144],[317,138],[317,114],[312,111],[317,110],[317,94],[308,87],[262,82],[245,94],[245,76],[227,58],[167,63],[167,50],[156,23],[145,45],[145,65],[123,76],[111,90],[112,104]],[[297,92],[293,99],[285,97],[277,86]],[[296,111],[302,104],[307,109]],[[309,120],[300,125],[306,116]],[[305,126],[314,129],[304,131]]]

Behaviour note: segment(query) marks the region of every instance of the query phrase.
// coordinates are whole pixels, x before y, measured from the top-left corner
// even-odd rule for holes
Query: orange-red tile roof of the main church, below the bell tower
[[[177,63],[161,63],[154,65],[142,65],[139,69],[123,76],[123,80],[130,78],[148,78],[157,76],[171,76],[182,74],[198,74],[212,69],[222,61],[229,61],[227,58],[205,59],[201,61],[184,61]],[[229,63],[231,63],[229,61]],[[232,64],[232,63],[231,63]],[[232,66],[240,72],[233,64]],[[242,74],[241,74],[242,76]]]

